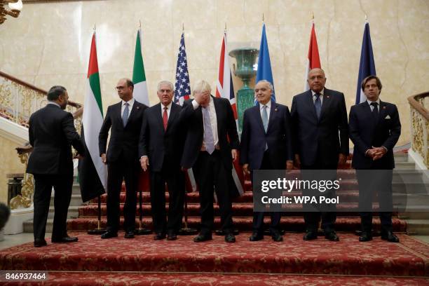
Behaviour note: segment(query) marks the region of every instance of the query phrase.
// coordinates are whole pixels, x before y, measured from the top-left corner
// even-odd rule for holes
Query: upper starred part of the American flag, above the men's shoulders
[[[174,102],[183,105],[185,100],[189,100],[189,95],[191,95],[191,85],[189,83],[188,62],[186,60],[186,49],[184,46],[184,33],[182,33],[179,53],[177,54]]]

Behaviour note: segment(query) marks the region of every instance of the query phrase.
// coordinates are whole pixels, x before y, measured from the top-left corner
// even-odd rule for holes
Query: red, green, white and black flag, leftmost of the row
[[[86,156],[79,160],[78,167],[81,196],[84,202],[101,195],[107,189],[107,167],[102,163],[98,149],[98,134],[103,123],[103,106],[95,32],[91,41],[87,79],[81,132]]]

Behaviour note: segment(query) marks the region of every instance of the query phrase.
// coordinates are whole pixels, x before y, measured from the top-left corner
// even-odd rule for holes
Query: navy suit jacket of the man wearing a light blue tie
[[[245,110],[240,142],[240,163],[248,163],[250,170],[261,168],[265,147],[275,169],[284,169],[287,160],[293,160],[290,112],[282,104],[271,103],[268,129],[264,130],[259,103]]]

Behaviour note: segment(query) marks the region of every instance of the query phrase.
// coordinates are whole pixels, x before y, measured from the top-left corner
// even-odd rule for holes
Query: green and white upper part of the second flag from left
[[[143,55],[142,55],[142,29],[137,31],[135,41],[134,67],[132,68],[132,82],[134,91],[132,93],[135,100],[146,104],[149,107],[149,93],[147,92],[146,74],[144,73]]]

